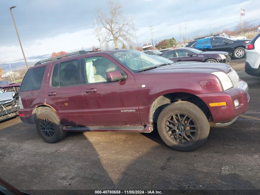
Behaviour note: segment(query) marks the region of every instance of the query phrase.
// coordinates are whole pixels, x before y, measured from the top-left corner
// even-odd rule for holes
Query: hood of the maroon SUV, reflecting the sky
[[[149,71],[145,71],[150,74],[163,74],[163,73],[212,73],[217,71],[222,71],[228,73],[232,71],[233,68],[227,64],[223,63],[182,63],[182,64],[171,64],[167,66],[158,67]]]

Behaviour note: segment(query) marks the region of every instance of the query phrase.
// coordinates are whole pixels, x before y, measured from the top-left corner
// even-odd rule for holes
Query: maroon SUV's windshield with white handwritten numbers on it
[[[117,51],[112,52],[110,55],[126,67],[130,68],[134,73],[144,68],[155,67],[162,64],[162,62],[157,59],[138,50]]]

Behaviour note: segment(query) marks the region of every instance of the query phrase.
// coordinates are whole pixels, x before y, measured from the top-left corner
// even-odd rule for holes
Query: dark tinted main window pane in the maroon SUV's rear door
[[[60,63],[59,81],[60,86],[70,86],[78,84],[77,59]]]

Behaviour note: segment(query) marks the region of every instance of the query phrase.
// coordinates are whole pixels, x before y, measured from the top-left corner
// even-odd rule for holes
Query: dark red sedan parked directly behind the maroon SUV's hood
[[[166,51],[159,56],[168,58],[172,61],[218,62],[229,64],[231,60],[228,53],[224,51],[200,51],[190,47]]]

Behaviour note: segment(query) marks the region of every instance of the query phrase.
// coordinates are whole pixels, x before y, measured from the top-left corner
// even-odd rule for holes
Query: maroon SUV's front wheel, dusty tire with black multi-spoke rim
[[[177,101],[166,106],[159,114],[157,128],[162,140],[179,151],[195,150],[206,141],[210,132],[205,114],[195,104],[187,101]]]

